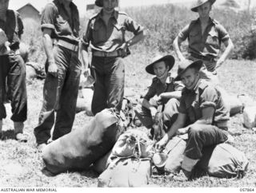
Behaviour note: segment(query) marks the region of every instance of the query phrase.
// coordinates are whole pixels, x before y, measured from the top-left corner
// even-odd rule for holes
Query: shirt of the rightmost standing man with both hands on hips
[[[216,20],[210,18],[206,30],[202,34],[201,22],[199,18],[190,22],[178,37],[189,42],[188,53],[198,56],[215,58],[221,49],[221,42],[229,40],[230,36],[225,28]]]

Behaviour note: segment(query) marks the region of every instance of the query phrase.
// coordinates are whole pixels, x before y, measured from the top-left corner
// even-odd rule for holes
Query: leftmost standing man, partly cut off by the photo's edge
[[[19,53],[23,24],[17,12],[8,10],[9,0],[0,0],[0,3],[0,136],[2,137],[2,119],[6,118],[4,100],[7,85],[15,138],[26,142],[23,134],[23,122],[27,114],[26,69]]]

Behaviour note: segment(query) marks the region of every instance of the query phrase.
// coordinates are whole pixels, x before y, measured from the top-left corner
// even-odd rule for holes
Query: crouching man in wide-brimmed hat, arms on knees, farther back
[[[173,68],[174,62],[174,57],[171,55],[165,57],[159,55],[146,66],[146,72],[156,77],[153,78],[142,105],[135,109],[135,113],[146,128],[151,128],[151,135],[156,134],[153,126],[158,119],[162,121],[162,128],[166,132],[178,116],[178,99],[181,97],[183,86],[170,77],[169,71]],[[155,105],[150,103],[153,97],[157,101]],[[159,112],[161,112],[160,116],[158,116]]]

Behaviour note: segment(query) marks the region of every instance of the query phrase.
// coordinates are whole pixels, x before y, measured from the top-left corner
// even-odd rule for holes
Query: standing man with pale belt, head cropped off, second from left
[[[47,61],[42,110],[38,126],[34,128],[39,150],[50,139],[53,125],[53,140],[71,131],[81,73],[77,6],[72,0],[54,0],[42,11],[41,24]]]

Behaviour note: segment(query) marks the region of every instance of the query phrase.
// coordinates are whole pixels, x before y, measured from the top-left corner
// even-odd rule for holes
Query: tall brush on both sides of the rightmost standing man
[[[146,39],[142,43],[143,49],[153,49],[160,52],[170,52],[174,38],[191,20],[198,17],[187,8],[167,4],[165,6],[147,6],[127,8],[136,22],[146,28]],[[222,24],[234,42],[234,52],[231,58],[241,59],[256,57],[256,35],[250,32],[253,14],[247,11],[214,9],[211,17]],[[182,45],[186,50],[186,43]],[[139,47],[139,50],[142,48]],[[223,48],[222,48],[223,50]]]

